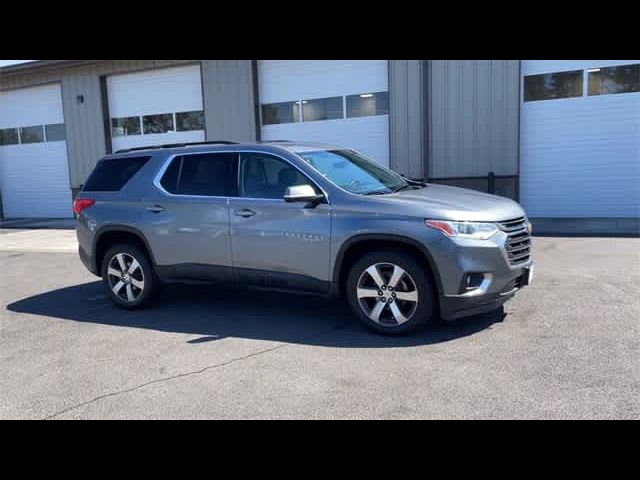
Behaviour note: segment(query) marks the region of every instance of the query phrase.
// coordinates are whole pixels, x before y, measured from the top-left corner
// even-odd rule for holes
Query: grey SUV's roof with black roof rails
[[[290,140],[268,140],[262,142],[196,142],[171,145],[153,145],[148,147],[136,147],[118,150],[107,155],[106,158],[123,158],[163,152],[167,154],[196,153],[212,151],[238,151],[238,150],[264,150],[265,152],[287,150],[293,153],[312,152],[318,150],[342,150],[344,147],[319,142],[300,142]]]

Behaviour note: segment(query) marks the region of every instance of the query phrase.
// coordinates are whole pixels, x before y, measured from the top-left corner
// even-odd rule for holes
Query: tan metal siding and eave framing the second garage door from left
[[[62,83],[67,132],[69,184],[76,190],[108,151],[100,77],[154,68],[202,63],[207,140],[253,140],[255,117],[250,60],[109,60],[42,67],[31,73],[3,74],[0,90]],[[83,102],[78,101],[83,96]]]

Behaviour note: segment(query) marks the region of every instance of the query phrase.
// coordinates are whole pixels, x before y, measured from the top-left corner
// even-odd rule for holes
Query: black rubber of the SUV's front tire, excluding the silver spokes
[[[381,270],[379,271],[382,271],[383,280],[391,280],[391,278],[389,278],[389,274],[385,273],[385,269],[388,269],[392,272],[393,266],[400,267],[405,271],[406,274],[408,274],[408,276],[402,277],[402,282],[398,282],[397,285],[399,286],[397,286],[396,288],[396,291],[398,292],[397,295],[400,295],[402,291],[402,293],[409,293],[412,294],[411,297],[417,298],[417,303],[415,304],[409,301],[398,302],[396,300],[395,303],[397,307],[403,310],[403,313],[406,314],[407,320],[403,323],[393,323],[397,321],[395,320],[395,314],[391,311],[391,304],[382,307],[383,310],[380,314],[379,321],[374,321],[369,317],[364,309],[367,308],[371,313],[374,311],[377,302],[380,302],[383,305],[385,302],[382,302],[380,298],[360,299],[358,297],[359,282],[363,282],[365,280],[373,280],[373,277],[367,278],[365,276],[365,272],[367,271],[367,269],[373,265],[381,264],[383,265],[380,267]],[[373,287],[373,289],[375,289],[374,285],[377,285],[377,283],[370,284],[370,287]],[[384,286],[386,287],[386,285]],[[364,284],[361,284],[361,287],[364,288]],[[429,322],[434,316],[435,312],[433,284],[429,278],[429,275],[424,271],[424,267],[421,265],[421,262],[419,262],[418,259],[404,252],[376,251],[367,253],[362,256],[352,265],[351,269],[349,270],[345,295],[347,297],[349,306],[365,325],[377,332],[386,335],[400,335],[411,332]],[[384,295],[390,294],[385,292]],[[387,301],[389,300],[391,300],[391,302],[393,303],[393,298],[387,298]],[[371,306],[371,308],[369,308],[369,306]]]

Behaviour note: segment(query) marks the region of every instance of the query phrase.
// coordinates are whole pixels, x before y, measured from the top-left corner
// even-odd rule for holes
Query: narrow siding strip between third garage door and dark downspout
[[[411,178],[425,174],[425,63],[389,61],[390,166]]]

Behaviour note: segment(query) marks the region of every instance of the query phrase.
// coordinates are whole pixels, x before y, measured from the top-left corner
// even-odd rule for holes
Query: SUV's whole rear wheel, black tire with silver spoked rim
[[[141,308],[157,289],[151,262],[135,245],[112,246],[102,260],[102,281],[111,300],[128,310]]]

